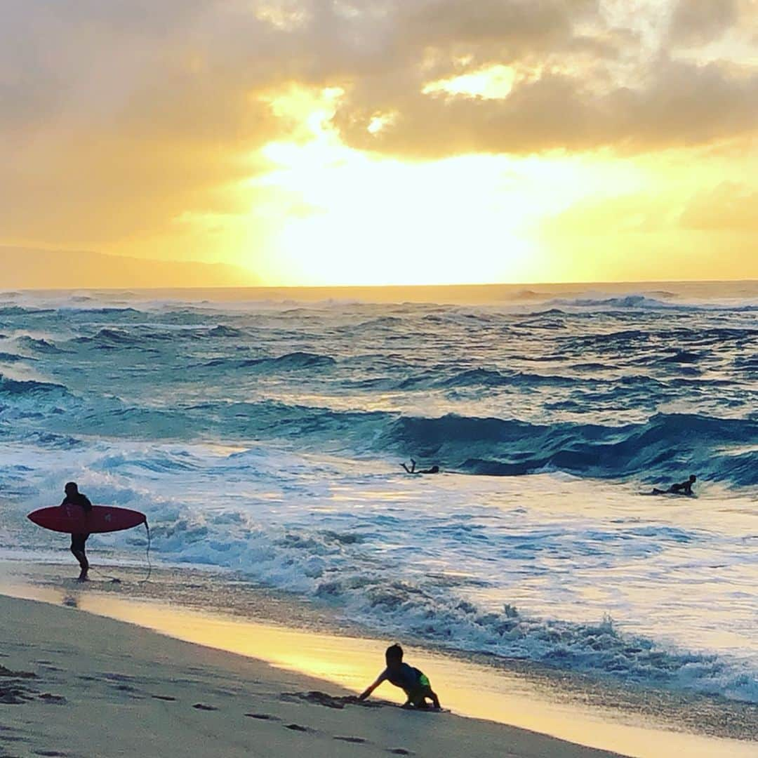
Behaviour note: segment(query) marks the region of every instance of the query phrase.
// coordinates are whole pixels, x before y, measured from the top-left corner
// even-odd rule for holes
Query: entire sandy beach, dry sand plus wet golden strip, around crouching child
[[[608,694],[587,693],[580,703],[566,683],[562,694],[557,680],[548,693],[550,682],[535,685],[535,677],[412,646],[409,661],[431,675],[452,713],[399,709],[402,693],[386,684],[368,703],[350,702],[345,698],[376,675],[384,641],[354,630],[334,634],[328,619],[268,594],[238,593],[235,615],[207,600],[204,609],[190,606],[171,593],[170,572],[158,571],[148,585],[124,568],[117,573],[124,584],[80,585],[66,578],[65,567],[27,565],[22,572],[6,562],[0,568],[3,758],[303,750],[314,756],[755,754],[754,742],[697,734],[685,725],[681,713],[714,721],[702,703],[685,704],[667,724],[651,715],[670,708],[666,700],[637,713],[628,703],[626,712],[603,704]],[[204,585],[199,572],[183,574],[196,598],[218,589],[212,578]],[[679,728],[672,718],[680,719]],[[744,732],[750,716],[730,718]]]

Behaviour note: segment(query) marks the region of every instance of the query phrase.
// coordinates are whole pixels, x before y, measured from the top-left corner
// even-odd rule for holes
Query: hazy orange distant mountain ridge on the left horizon
[[[157,261],[100,252],[0,246],[0,288],[255,287],[252,271],[225,263]]]

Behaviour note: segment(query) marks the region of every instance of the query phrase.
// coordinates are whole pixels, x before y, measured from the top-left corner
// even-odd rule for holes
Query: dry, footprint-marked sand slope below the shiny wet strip
[[[124,622],[0,597],[0,754],[611,756],[506,725],[413,713]]]

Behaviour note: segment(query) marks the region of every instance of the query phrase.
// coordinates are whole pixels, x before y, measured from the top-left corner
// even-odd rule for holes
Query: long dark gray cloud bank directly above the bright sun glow
[[[735,136],[758,125],[758,75],[735,77],[719,64],[696,66],[663,58],[642,89],[597,94],[565,74],[518,83],[508,98],[421,96],[415,82],[387,90],[365,83],[351,92],[337,123],[361,149],[415,158],[459,152],[530,153],[615,147],[646,152]],[[376,110],[396,124],[365,130]]]

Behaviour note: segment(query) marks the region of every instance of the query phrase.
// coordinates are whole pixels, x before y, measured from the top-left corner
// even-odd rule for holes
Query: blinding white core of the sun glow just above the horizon
[[[274,144],[264,180],[299,198],[277,248],[280,271],[314,284],[462,283],[518,276],[531,245],[525,205],[504,203],[476,158],[430,166],[378,161],[328,134]],[[490,183],[481,202],[472,184]],[[497,223],[493,224],[493,220]]]

